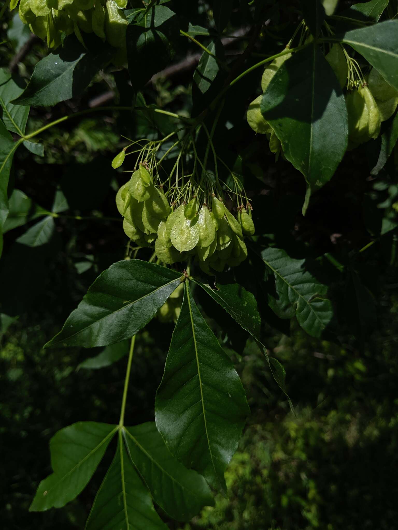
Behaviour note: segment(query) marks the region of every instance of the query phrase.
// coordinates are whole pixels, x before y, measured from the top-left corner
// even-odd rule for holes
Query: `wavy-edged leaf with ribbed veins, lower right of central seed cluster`
[[[290,258],[284,250],[267,248],[261,257],[267,269],[271,309],[282,319],[296,314],[302,329],[312,337],[321,337],[333,317],[327,286],[306,270],[306,260]]]

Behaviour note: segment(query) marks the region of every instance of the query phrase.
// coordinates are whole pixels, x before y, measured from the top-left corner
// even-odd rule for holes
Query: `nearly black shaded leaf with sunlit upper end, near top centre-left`
[[[135,23],[127,26],[128,72],[136,92],[170,63],[178,37],[177,16],[164,5],[141,12]]]

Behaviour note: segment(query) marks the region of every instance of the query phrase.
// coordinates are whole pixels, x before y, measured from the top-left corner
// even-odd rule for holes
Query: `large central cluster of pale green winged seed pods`
[[[114,166],[119,165],[118,156]],[[163,190],[155,187],[148,169],[140,164],[117,192],[116,205],[124,217],[126,235],[139,246],[154,243],[162,263],[171,265],[191,256],[203,271],[221,272],[247,258],[244,236],[254,234],[254,223],[248,203],[246,208],[238,207],[236,218],[222,200],[214,194],[210,198],[211,210],[197,197],[170,206]]]

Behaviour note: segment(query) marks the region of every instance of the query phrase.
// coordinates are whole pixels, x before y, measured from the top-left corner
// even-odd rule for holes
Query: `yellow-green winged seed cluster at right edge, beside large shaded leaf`
[[[398,92],[375,69],[365,76],[365,83],[358,84],[345,94],[348,112],[349,149],[370,138],[377,138],[382,121],[388,120],[398,104]]]

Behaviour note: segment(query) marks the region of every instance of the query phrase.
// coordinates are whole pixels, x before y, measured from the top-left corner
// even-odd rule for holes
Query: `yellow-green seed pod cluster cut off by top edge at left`
[[[17,5],[18,0],[11,0],[12,9]],[[75,33],[83,45],[84,33],[94,33],[117,48],[115,57],[122,64],[126,57],[126,5],[127,0],[21,0],[19,16],[50,48],[60,45],[63,33]]]

